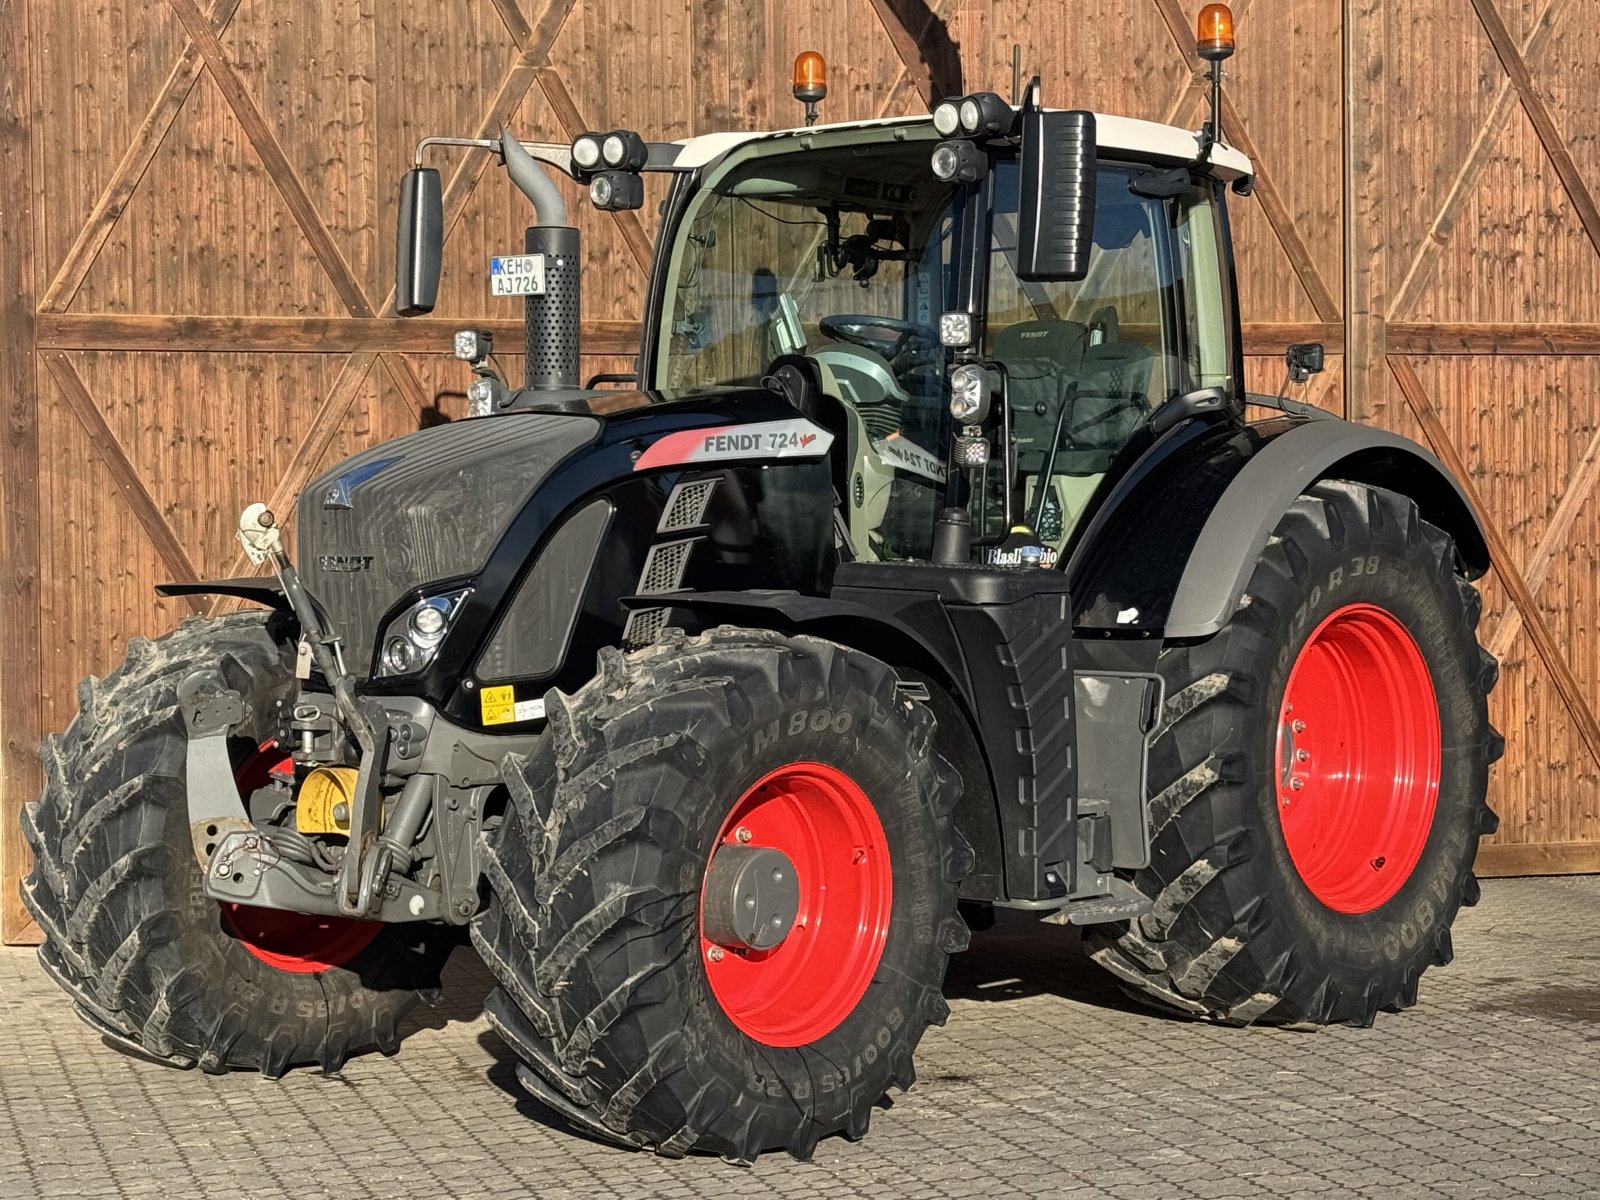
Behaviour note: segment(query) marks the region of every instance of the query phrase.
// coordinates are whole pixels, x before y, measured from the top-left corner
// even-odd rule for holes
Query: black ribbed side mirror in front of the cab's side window
[[[1096,166],[1093,112],[1022,110],[1018,278],[1042,283],[1088,274]]]

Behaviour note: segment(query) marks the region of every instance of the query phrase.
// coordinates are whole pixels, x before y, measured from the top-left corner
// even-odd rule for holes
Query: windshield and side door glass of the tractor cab
[[[712,174],[670,250],[653,376],[674,390],[758,386],[803,355],[845,448],[835,488],[850,554],[923,558],[954,432],[938,320],[979,304],[981,349],[1008,379],[1011,453],[990,430],[992,466],[952,498],[965,494],[981,541],[1021,522],[1054,560],[1160,405],[1237,387],[1214,194],[1146,194],[1150,168],[1102,165],[1088,275],[1030,283],[1016,274],[1014,157],[994,158],[989,187],[958,187],[934,178],[933,142],[920,128],[811,149],[784,139]],[[979,197],[990,221],[963,221]],[[974,256],[954,242],[984,226],[987,272],[958,296],[954,264]]]

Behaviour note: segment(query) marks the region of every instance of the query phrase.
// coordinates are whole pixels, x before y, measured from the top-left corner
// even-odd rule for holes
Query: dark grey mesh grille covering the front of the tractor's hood
[[[598,432],[587,416],[459,421],[384,442],[306,485],[299,574],[344,637],[346,666],[368,675],[379,618],[413,587],[482,570],[534,488]]]

